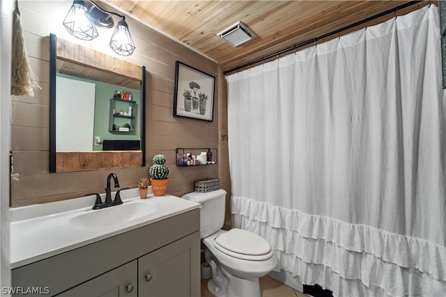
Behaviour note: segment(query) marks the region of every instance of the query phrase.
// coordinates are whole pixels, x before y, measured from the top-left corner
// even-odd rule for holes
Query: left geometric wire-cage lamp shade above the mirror
[[[93,40],[98,37],[98,30],[83,1],[73,1],[68,15],[63,20],[63,26],[80,40]]]

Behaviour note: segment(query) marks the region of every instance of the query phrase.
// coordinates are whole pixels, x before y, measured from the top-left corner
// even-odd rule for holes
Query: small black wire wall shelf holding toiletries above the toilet
[[[217,164],[216,148],[178,147],[176,149],[176,166],[178,167],[208,166],[215,164]]]

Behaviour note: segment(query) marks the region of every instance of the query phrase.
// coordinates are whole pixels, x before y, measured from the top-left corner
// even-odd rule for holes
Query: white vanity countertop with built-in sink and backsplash
[[[149,190],[149,192],[151,191]],[[102,200],[105,200],[103,195],[101,196]],[[114,198],[114,193],[112,193],[112,198]],[[140,199],[137,188],[121,191],[121,199],[124,204],[97,210],[91,209],[95,202],[94,196],[11,209],[11,268],[52,257],[61,252],[73,250],[200,207],[198,203],[171,195],[160,197],[148,195],[147,199]],[[140,207],[134,207],[133,210],[139,208],[139,214],[131,220],[125,220],[127,211],[125,207],[135,203],[139,203],[137,205]],[[145,204],[141,205],[140,203]],[[116,211],[122,206],[125,206],[122,208],[123,211],[119,213],[119,216],[116,216]],[[148,211],[148,214],[141,213],[144,211],[144,209],[141,210],[141,206],[154,207],[155,211]],[[94,216],[99,212],[110,210],[112,212],[109,213],[109,216],[107,215],[107,221],[112,222],[110,224],[105,224],[104,220],[100,220],[100,225],[90,228],[72,223],[73,218],[79,218],[79,215],[87,214],[89,218],[94,219]],[[89,215],[93,212],[93,216]],[[104,214],[106,213],[104,212]],[[121,215],[124,216],[123,222],[119,222]],[[86,220],[86,225],[89,225],[89,222]]]

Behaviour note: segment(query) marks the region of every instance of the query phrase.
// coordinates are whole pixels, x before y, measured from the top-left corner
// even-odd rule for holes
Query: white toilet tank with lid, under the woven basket
[[[192,192],[181,198],[201,204],[200,237],[202,239],[223,227],[226,191],[220,189],[207,193]]]

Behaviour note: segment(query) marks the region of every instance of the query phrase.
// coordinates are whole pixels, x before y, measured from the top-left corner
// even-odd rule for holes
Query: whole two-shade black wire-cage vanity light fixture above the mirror
[[[121,17],[121,19],[114,29],[109,46],[118,55],[130,56],[136,47],[132,35],[130,35],[128,24],[125,22],[125,17],[100,8],[93,0],[74,0],[68,15],[63,21],[63,26],[71,35],[80,40],[93,40],[99,35],[96,26],[113,28],[112,15]]]

